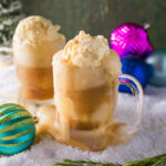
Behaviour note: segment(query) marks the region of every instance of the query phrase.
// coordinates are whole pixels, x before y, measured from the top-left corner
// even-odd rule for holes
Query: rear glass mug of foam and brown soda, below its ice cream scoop
[[[45,42],[44,44],[12,44],[15,73],[19,83],[18,103],[24,106],[32,103],[50,103],[53,98],[52,58],[65,44]]]

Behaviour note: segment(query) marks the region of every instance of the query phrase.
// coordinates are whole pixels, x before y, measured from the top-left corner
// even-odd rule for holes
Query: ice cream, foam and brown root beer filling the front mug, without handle
[[[121,68],[118,55],[102,35],[81,31],[68,42],[53,58],[54,102],[60,118],[68,112],[74,129],[95,129],[112,122]]]

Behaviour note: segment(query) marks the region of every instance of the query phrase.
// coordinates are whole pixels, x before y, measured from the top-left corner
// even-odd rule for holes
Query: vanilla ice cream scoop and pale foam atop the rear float
[[[65,37],[59,30],[60,25],[42,17],[21,20],[12,41],[14,62],[29,68],[51,66],[53,54],[65,45]]]

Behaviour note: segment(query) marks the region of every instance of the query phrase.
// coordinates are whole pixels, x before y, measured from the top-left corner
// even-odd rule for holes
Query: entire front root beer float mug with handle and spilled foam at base
[[[60,143],[89,151],[131,138],[141,124],[143,91],[135,79],[121,75],[121,68],[120,56],[104,37],[81,31],[70,40],[53,56],[55,106],[45,105],[38,112],[38,135],[50,133]],[[114,117],[120,84],[132,87],[138,97],[137,120],[129,125]]]

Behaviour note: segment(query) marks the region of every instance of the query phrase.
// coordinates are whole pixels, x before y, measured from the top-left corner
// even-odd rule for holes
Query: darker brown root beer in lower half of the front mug
[[[111,91],[112,87],[110,85],[101,85],[76,92],[69,91],[66,97],[71,98],[77,117],[76,120],[71,117],[71,128],[83,131],[93,129],[100,127],[103,123],[113,121],[115,100],[112,98]],[[102,105],[106,105],[103,111],[100,110]],[[98,114],[97,116],[100,116],[101,113],[107,115],[106,120],[95,120],[94,114]]]

